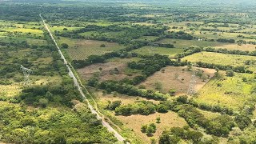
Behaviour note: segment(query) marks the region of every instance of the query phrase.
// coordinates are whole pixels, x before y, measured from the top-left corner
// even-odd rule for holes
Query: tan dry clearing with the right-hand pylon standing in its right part
[[[193,73],[192,71],[187,71],[186,68],[186,66],[167,66],[166,68],[163,68],[165,69],[165,73],[158,71],[149,78],[147,78],[145,82],[142,82],[139,85],[146,86],[146,89],[155,90],[156,82],[160,82],[162,84],[161,91],[163,93],[168,93],[170,89],[174,89],[177,90],[177,95],[186,94],[190,86],[190,80]],[[195,67],[194,69],[203,70],[204,74],[206,74],[207,77],[209,75],[209,78],[207,78],[205,82],[202,82],[202,79],[198,77],[196,78],[195,90],[198,91],[202,88],[202,86],[206,84],[206,82],[209,81],[210,78],[214,76],[215,70]]]

